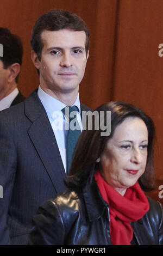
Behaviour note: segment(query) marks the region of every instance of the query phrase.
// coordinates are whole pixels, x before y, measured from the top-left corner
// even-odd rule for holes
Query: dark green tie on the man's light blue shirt
[[[71,112],[74,111],[74,116],[70,117]],[[77,111],[78,107],[77,106],[70,106],[70,107],[65,107],[62,109],[62,112],[65,114],[65,117],[68,120],[68,131],[67,131],[67,138],[66,138],[66,173],[68,175],[70,167],[71,167],[71,162],[72,162],[72,156],[74,152],[74,148],[76,146],[76,143],[78,141],[78,138],[81,134],[80,131],[80,126],[77,121]],[[68,115],[69,113],[69,115]]]

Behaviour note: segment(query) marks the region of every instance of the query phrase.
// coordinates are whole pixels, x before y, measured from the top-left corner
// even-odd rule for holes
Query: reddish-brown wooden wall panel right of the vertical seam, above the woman
[[[162,14],[162,1],[120,1],[112,95],[114,100],[128,101],[142,108],[154,120],[155,197],[158,186],[163,185],[163,58],[158,55],[158,45],[163,42]]]

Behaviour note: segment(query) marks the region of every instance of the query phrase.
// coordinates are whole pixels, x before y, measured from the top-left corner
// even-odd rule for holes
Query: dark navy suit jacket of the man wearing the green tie
[[[81,103],[81,110],[90,108]],[[27,243],[40,204],[64,191],[65,170],[37,91],[0,113],[0,244]]]

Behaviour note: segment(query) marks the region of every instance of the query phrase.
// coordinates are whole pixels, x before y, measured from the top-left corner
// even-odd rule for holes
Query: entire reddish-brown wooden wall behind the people
[[[49,9],[67,9],[90,28],[91,46],[80,100],[95,108],[110,100],[134,103],[156,126],[156,190],[163,185],[163,44],[162,0],[1,0],[0,26],[21,36],[24,45],[18,87],[28,96],[39,86],[30,60],[30,35],[36,19]],[[163,195],[163,193],[162,193]]]

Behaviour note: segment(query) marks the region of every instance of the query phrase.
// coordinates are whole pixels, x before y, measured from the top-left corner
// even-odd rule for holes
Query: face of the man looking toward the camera
[[[42,89],[55,93],[78,91],[87,62],[84,31],[43,31],[40,69]]]

